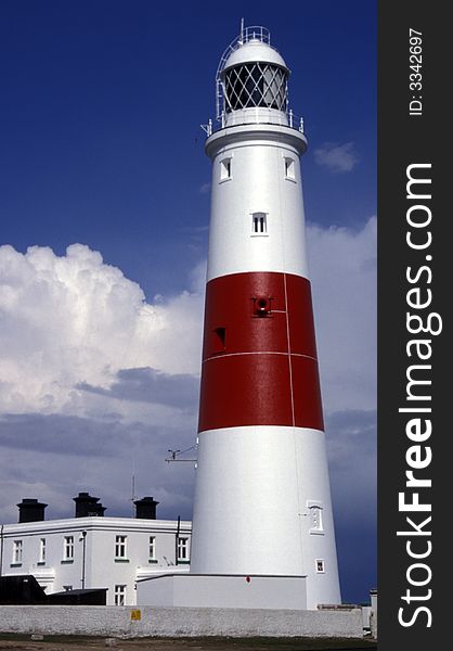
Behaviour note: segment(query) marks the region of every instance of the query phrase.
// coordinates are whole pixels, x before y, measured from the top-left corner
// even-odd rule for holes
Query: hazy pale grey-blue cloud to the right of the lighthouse
[[[376,407],[376,218],[308,228],[324,407]]]

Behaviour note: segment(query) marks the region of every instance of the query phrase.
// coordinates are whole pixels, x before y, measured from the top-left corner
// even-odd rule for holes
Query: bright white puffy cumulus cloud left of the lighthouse
[[[0,409],[54,412],[79,383],[107,386],[125,368],[197,374],[202,303],[195,291],[146,303],[102,256],[0,247]]]

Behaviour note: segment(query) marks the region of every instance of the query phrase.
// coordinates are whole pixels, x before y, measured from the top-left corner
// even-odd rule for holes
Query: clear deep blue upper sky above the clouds
[[[293,71],[290,104],[310,142],[308,218],[355,225],[375,210],[375,16],[363,0],[186,3],[78,0],[1,3],[2,239],[63,253],[82,241],[146,292],[171,291],[204,255],[209,161],[200,123],[213,116],[223,49],[263,24]],[[360,165],[333,175],[325,142],[353,142]],[[191,239],[192,237],[192,239]],[[187,246],[189,244],[189,246]],[[173,265],[165,264],[171,252]],[[151,281],[152,279],[152,281]]]

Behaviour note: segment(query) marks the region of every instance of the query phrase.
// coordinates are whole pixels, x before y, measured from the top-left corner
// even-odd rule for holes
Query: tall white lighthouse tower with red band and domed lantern
[[[340,592],[305,239],[307,138],[288,107],[288,77],[269,31],[242,28],[219,64],[218,123],[206,127],[191,574],[267,577],[277,591],[299,577],[299,607],[315,609]]]

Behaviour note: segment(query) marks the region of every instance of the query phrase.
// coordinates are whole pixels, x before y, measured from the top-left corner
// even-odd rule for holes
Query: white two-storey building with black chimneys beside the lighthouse
[[[79,494],[79,498],[87,495]],[[146,507],[151,499],[135,502],[138,518],[105,518],[100,512],[104,511],[102,505],[91,501],[98,515],[51,521],[44,521],[43,508],[39,509],[46,505],[24,500],[18,505],[23,518],[24,503],[31,510],[35,507],[31,518],[36,507],[42,518],[2,525],[0,575],[33,574],[48,595],[107,588],[107,604],[134,605],[137,580],[189,571],[192,523],[144,518],[150,512],[145,509],[143,513],[140,505]]]

